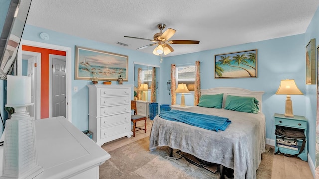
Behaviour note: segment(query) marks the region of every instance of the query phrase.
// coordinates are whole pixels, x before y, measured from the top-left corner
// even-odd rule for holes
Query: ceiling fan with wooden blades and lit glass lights
[[[141,39],[141,40],[149,40],[152,42],[156,42],[156,43],[149,44],[149,45],[146,45],[146,46],[143,46],[143,47],[136,49],[136,50],[139,50],[139,49],[144,49],[146,47],[157,45],[157,47],[153,50],[154,55],[160,55],[162,53],[164,53],[164,55],[167,55],[170,52],[173,52],[174,49],[169,44],[199,44],[198,40],[169,40],[175,34],[176,30],[172,29],[172,28],[168,28],[165,32],[162,32],[162,30],[165,27],[166,27],[166,25],[163,23],[158,24],[158,28],[160,29],[160,33],[154,34],[154,36],[153,36],[154,40],[146,39],[146,38],[139,38],[139,37],[130,37],[130,36],[124,36],[124,37]]]

